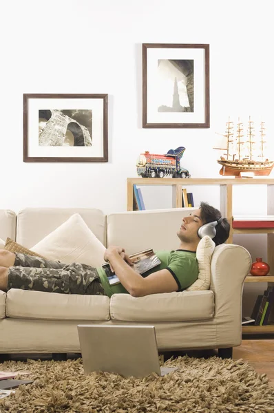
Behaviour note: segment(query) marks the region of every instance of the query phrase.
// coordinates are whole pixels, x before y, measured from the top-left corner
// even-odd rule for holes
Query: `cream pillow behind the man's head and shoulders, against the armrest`
[[[198,279],[196,279],[196,282],[193,282],[189,288],[186,288],[187,291],[209,290],[211,276],[210,263],[214,248],[215,242],[211,240],[209,235],[202,237],[196,251],[199,268]]]

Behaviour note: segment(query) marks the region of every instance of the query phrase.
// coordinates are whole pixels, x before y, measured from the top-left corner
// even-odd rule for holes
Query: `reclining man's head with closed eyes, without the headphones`
[[[218,209],[211,207],[207,202],[201,202],[200,208],[182,219],[182,225],[177,235],[181,242],[187,244],[198,244],[200,237],[198,231],[202,225],[220,220],[222,215]],[[222,244],[229,237],[230,225],[226,218],[215,226],[216,235],[213,242],[216,245]]]

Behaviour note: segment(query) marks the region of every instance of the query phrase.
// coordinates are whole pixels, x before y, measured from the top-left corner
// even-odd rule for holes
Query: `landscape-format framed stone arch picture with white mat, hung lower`
[[[24,94],[23,162],[107,162],[107,94]]]

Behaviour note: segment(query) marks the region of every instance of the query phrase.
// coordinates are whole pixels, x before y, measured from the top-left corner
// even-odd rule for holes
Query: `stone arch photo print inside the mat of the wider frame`
[[[39,110],[39,146],[92,146],[92,110]]]

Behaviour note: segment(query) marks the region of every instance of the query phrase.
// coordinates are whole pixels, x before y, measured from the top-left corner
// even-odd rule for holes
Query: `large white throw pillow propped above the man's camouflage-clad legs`
[[[105,246],[78,213],[30,249],[49,260],[59,260],[65,264],[81,262],[98,267],[105,262]]]

